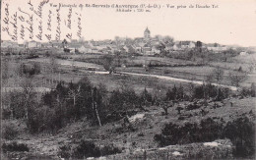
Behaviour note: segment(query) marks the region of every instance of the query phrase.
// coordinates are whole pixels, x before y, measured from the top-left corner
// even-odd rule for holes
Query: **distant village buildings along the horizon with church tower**
[[[196,47],[195,41],[173,41],[173,38],[165,36],[155,36],[151,37],[151,31],[147,27],[144,31],[144,37],[138,37],[135,39],[131,38],[120,38],[116,37],[114,40],[90,40],[90,41],[79,41],[71,40],[67,41],[56,41],[52,40],[50,42],[37,42],[37,41],[27,41],[23,44],[18,44],[16,42],[5,40],[1,41],[1,47],[3,48],[59,48],[68,49],[73,53],[105,53],[111,54],[114,52],[121,53],[137,53],[143,55],[155,55],[161,52],[170,52],[178,50],[192,49]],[[207,48],[214,52],[224,51],[227,48],[220,44],[203,44],[201,47]]]

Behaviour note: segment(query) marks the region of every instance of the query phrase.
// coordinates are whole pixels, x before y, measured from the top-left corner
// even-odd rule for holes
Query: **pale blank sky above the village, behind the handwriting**
[[[2,19],[6,18],[5,6],[9,4],[9,19],[17,11],[18,16],[28,16],[18,11],[20,7],[23,11],[32,14],[30,11],[29,0],[3,0],[2,1]],[[36,11],[38,1],[31,1],[33,9]],[[152,9],[150,13],[118,13],[113,8],[73,8],[72,11],[72,28],[67,27],[69,8],[60,9],[60,26],[61,39],[66,38],[67,33],[72,33],[72,38],[78,38],[78,15],[81,14],[82,19],[82,36],[86,40],[91,39],[113,39],[115,36],[121,37],[142,37],[146,27],[151,30],[152,36],[157,34],[173,36],[175,40],[201,40],[206,43],[218,42],[221,44],[238,44],[242,46],[256,46],[256,0],[49,0],[42,8],[42,41],[46,41],[44,34],[52,34],[52,40],[56,34],[56,8],[50,7],[52,4],[160,4],[160,9]],[[170,5],[191,5],[199,4],[201,6],[209,5],[210,9],[169,9],[166,4]],[[212,5],[218,5],[219,8],[213,8]],[[51,10],[51,31],[47,30],[48,12]],[[29,20],[29,19],[28,19]],[[40,19],[33,16],[33,40],[39,41],[35,35],[39,32],[38,21]],[[66,22],[66,26],[65,26]],[[2,39],[10,39],[3,27],[6,27],[1,22]],[[23,39],[20,36],[21,25],[29,27],[28,24],[23,24],[18,20],[18,42]],[[9,31],[13,32],[13,27],[9,26]],[[25,39],[29,38],[29,30],[25,29]]]

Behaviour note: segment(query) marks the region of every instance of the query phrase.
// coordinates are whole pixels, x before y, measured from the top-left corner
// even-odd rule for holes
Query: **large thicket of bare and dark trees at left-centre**
[[[128,86],[108,92],[103,84],[94,86],[88,78],[77,83],[61,81],[41,99],[27,81],[23,90],[6,97],[3,118],[25,119],[31,133],[56,133],[66,124],[84,118],[102,126],[132,116],[153,101],[146,88],[141,94]]]

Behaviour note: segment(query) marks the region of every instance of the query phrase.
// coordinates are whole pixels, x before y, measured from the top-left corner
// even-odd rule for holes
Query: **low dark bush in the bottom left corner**
[[[10,152],[14,152],[14,151],[18,151],[18,152],[27,151],[27,152],[29,152],[30,151],[27,144],[23,144],[23,143],[18,144],[16,141],[14,141],[12,143],[9,143],[9,144],[8,143],[3,143],[2,149],[3,149],[4,153],[6,153],[7,151],[10,151]]]

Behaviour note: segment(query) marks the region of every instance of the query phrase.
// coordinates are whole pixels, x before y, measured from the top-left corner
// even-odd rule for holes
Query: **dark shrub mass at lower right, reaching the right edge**
[[[212,118],[202,120],[200,124],[186,123],[183,126],[169,123],[154,138],[160,146],[229,138],[234,145],[234,156],[253,157],[255,123],[244,116],[228,122],[226,125],[224,122],[214,121]]]

